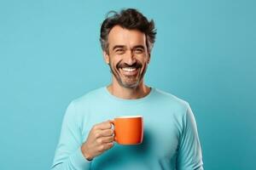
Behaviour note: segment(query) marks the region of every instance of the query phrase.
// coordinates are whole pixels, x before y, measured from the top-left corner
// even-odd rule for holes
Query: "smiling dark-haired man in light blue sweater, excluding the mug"
[[[144,84],[155,34],[154,21],[132,8],[103,21],[112,82],[67,107],[52,169],[203,169],[189,104]],[[123,115],[143,116],[142,144],[114,143],[110,120]]]

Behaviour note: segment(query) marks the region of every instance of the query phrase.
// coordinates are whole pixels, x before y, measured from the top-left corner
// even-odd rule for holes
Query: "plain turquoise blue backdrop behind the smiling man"
[[[255,169],[255,1],[0,1],[0,169],[49,169],[72,99],[110,81],[99,32],[138,8],[157,38],[150,86],[189,101],[205,169]]]

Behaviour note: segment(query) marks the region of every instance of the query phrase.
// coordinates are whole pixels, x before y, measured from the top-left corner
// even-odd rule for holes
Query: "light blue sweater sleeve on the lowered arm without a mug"
[[[201,144],[199,141],[195,117],[189,105],[183,117],[183,133],[177,154],[178,170],[203,170]]]

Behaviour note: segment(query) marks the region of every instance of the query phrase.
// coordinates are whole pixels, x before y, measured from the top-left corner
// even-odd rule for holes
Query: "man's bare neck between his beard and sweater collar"
[[[148,88],[142,82],[136,88],[125,88],[119,85],[118,82],[112,82],[108,86],[108,92],[121,99],[140,99],[149,94],[151,88]]]

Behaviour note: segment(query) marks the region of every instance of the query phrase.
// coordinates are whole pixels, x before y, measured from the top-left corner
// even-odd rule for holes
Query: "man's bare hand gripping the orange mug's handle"
[[[111,122],[96,124],[90,129],[90,133],[81,146],[82,153],[87,160],[101,155],[104,151],[113,147],[113,129]]]

